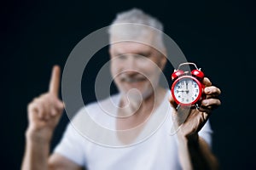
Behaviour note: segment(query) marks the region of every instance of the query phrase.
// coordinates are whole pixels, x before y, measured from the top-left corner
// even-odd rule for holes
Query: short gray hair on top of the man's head
[[[117,14],[108,29],[110,42],[113,42],[113,37],[137,40],[137,38],[148,37],[148,33],[154,32],[153,46],[163,49],[165,45],[162,31],[163,25],[159,20],[138,8]]]

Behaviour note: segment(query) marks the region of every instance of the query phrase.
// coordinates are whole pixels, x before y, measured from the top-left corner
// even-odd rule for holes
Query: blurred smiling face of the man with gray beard
[[[143,98],[154,92],[166,57],[140,42],[118,42],[110,47],[111,73],[121,93],[136,88]]]

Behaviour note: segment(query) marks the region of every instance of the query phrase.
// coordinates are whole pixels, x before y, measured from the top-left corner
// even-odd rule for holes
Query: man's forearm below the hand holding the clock
[[[183,169],[218,169],[218,161],[208,144],[198,135],[178,137],[179,159]]]

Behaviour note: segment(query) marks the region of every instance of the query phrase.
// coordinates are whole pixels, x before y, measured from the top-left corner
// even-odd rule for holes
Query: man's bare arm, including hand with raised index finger
[[[60,67],[55,66],[49,92],[34,99],[27,107],[29,126],[26,130],[22,170],[82,169],[63,156],[54,154],[49,158],[50,140],[64,109],[63,103],[58,99],[60,76]]]

